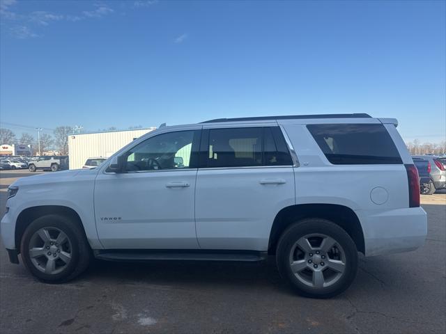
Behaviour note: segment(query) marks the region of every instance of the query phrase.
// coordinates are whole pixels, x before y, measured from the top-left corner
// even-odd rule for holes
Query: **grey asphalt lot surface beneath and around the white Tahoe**
[[[26,171],[0,174],[4,185]],[[12,177],[10,177],[12,176]],[[0,333],[445,333],[446,194],[422,196],[424,247],[360,257],[334,299],[296,296],[260,264],[100,262],[64,285],[39,283],[0,244]]]

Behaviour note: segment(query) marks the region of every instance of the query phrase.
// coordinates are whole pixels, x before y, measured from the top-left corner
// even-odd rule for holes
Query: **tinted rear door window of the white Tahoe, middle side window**
[[[209,129],[205,150],[204,167],[292,165],[278,127]]]

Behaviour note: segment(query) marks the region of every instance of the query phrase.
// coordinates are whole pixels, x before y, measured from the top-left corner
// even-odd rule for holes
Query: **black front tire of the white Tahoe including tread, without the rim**
[[[30,241],[33,234],[41,228],[57,228],[64,232],[71,244],[71,260],[60,273],[43,273],[31,262]],[[48,214],[33,221],[25,230],[20,244],[22,260],[26,269],[44,283],[65,283],[84,272],[91,261],[91,248],[79,222],[67,216]]]

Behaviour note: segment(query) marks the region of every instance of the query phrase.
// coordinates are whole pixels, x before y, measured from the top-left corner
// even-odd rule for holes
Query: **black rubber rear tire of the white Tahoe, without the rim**
[[[310,287],[309,285],[302,283],[291,270],[290,256],[293,245],[295,245],[300,238],[309,234],[324,234],[337,241],[344,250],[344,272],[341,273],[339,279],[335,283],[332,283],[332,285],[327,287]],[[312,298],[330,298],[344,292],[351,285],[357,273],[358,260],[355,243],[347,232],[340,228],[339,225],[321,218],[307,218],[294,223],[284,231],[277,244],[276,261],[280,275],[291,284],[291,287],[293,287],[298,294]],[[328,262],[328,259],[325,261]],[[323,262],[320,262],[319,266],[321,265],[323,265]],[[321,269],[321,267],[319,269]],[[326,269],[323,269],[323,272],[326,272]],[[323,273],[323,275],[325,274]]]

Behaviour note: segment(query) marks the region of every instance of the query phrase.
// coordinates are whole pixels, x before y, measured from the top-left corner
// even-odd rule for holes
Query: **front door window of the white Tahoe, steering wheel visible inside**
[[[197,141],[195,136],[199,136],[199,131],[169,132],[148,138],[127,152],[125,170],[193,168],[192,142]]]

